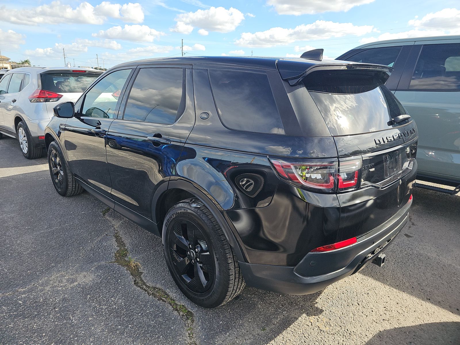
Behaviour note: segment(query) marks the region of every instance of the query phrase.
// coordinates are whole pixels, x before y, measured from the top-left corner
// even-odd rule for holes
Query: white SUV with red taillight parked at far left
[[[0,138],[19,140],[24,157],[38,158],[53,108],[74,102],[102,72],[72,67],[23,67],[0,80]]]

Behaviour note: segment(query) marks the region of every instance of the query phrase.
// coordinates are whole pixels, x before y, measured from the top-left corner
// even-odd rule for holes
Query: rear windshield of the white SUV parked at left
[[[83,92],[95,81],[100,74],[81,72],[42,73],[41,88],[43,90],[68,93]]]

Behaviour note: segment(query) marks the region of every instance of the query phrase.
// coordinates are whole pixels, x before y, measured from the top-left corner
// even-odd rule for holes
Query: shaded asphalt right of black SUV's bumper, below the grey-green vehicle
[[[385,266],[368,265],[360,273],[460,315],[460,197],[420,188],[413,196],[409,221],[385,252]]]

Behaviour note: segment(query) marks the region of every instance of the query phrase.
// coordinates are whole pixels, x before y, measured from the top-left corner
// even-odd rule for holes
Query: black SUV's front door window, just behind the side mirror
[[[121,69],[98,81],[86,93],[79,115],[106,119],[115,118],[116,104],[130,73],[131,69]]]

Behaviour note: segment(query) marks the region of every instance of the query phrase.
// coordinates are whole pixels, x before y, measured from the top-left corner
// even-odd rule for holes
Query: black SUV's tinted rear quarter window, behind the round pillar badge
[[[262,73],[210,69],[219,116],[226,127],[284,134],[268,77]]]

